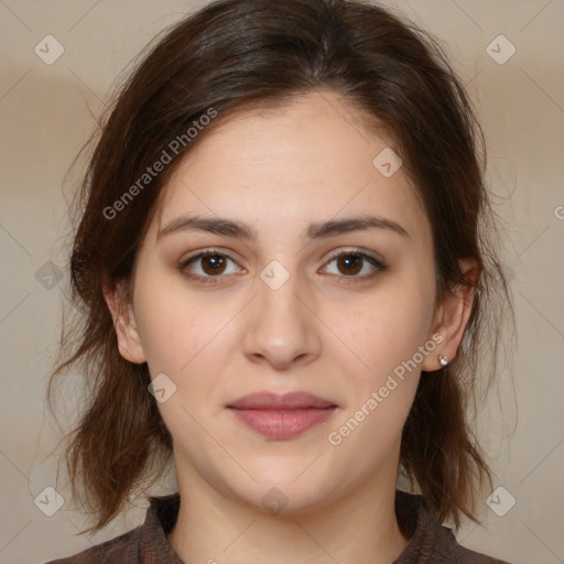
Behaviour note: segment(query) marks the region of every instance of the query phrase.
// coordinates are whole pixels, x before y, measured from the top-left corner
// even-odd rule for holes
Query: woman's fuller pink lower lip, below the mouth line
[[[238,410],[230,408],[247,426],[270,438],[292,438],[327,421],[337,408],[303,410]]]

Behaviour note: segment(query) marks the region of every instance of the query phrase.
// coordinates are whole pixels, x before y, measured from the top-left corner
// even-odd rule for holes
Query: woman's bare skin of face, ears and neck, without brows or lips
[[[132,303],[119,289],[106,292],[121,355],[176,386],[159,409],[182,498],[169,540],[185,562],[389,564],[408,543],[394,513],[402,427],[421,370],[437,370],[438,354],[456,355],[471,295],[457,290],[435,302],[429,218],[401,167],[387,178],[372,165],[386,147],[327,90],[224,120],[167,185],[137,258]],[[158,237],[186,214],[245,223],[257,240],[194,230]],[[409,236],[305,238],[312,223],[362,214],[397,221]],[[209,261],[181,268],[209,248],[231,259],[216,284],[187,276],[213,278]],[[365,260],[351,275],[333,260],[358,249],[387,268]],[[272,260],[290,275],[278,290],[260,278]],[[330,444],[328,433],[433,335],[442,343]],[[338,409],[294,438],[267,438],[226,409],[265,390],[307,391]],[[273,487],[288,501],[279,514],[261,501]]]

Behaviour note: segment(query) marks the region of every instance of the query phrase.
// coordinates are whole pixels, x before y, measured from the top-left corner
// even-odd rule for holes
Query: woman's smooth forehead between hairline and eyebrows
[[[216,120],[171,176],[156,229],[186,212],[243,219],[260,232],[371,210],[429,231],[401,167],[386,177],[373,164],[391,142],[341,96],[315,91]]]

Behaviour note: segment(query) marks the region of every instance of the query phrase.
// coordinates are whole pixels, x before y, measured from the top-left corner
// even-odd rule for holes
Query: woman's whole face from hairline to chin
[[[401,167],[372,164],[387,147],[312,93],[224,121],[172,176],[118,335],[161,375],[188,490],[260,508],[276,487],[299,512],[395,484],[421,370],[451,339],[429,219]],[[257,392],[273,395],[237,403]]]

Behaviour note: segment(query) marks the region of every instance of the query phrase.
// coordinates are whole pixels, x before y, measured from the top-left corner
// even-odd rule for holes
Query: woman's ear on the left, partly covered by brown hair
[[[104,299],[113,319],[120,355],[130,362],[142,364],[147,358],[137,328],[133,304],[127,296],[124,284],[118,283],[111,288],[106,285]]]

